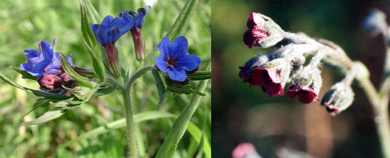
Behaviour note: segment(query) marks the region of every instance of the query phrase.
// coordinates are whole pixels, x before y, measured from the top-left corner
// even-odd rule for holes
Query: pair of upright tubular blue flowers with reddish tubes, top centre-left
[[[150,6],[147,6],[146,9],[138,9],[138,14],[134,11],[123,11],[119,13],[119,17],[114,18],[113,16],[106,16],[101,24],[90,24],[97,42],[105,48],[108,61],[106,67],[115,77],[121,75],[121,67],[115,48],[115,42],[129,30],[134,30],[131,31],[131,33],[133,35],[137,60],[145,59],[141,28],[144,17],[149,10]]]

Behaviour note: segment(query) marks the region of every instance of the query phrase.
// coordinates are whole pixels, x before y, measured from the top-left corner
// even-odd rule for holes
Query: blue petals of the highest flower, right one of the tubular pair
[[[146,8],[146,9],[145,9]],[[119,13],[119,18],[122,19],[124,23],[133,23],[133,28],[142,28],[142,23],[144,23],[144,18],[149,12],[151,7],[148,5],[145,8],[139,8],[137,10],[138,14],[135,11],[123,11]]]

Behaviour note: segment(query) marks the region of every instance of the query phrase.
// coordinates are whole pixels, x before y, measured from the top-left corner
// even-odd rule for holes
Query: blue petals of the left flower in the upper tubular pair
[[[128,32],[133,23],[125,23],[121,18],[106,16],[101,24],[89,24],[95,34],[97,42],[105,46],[116,42],[122,35]]]

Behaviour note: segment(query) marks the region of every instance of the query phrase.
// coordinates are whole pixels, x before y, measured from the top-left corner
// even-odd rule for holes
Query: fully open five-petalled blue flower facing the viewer
[[[164,37],[157,49],[163,56],[154,61],[162,72],[168,72],[170,79],[182,82],[187,78],[186,70],[192,71],[200,64],[198,56],[187,54],[188,41],[184,36],[177,37],[172,44],[168,37]]]

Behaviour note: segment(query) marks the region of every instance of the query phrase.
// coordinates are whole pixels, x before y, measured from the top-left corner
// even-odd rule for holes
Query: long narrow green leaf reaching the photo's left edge
[[[62,94],[49,93],[46,91],[38,91],[38,90],[33,90],[30,88],[23,87],[20,84],[17,84],[14,81],[12,81],[11,79],[9,79],[8,77],[3,75],[2,73],[0,73],[0,79],[2,79],[3,81],[5,81],[8,84],[11,84],[12,86],[14,86],[16,88],[24,90],[27,93],[30,93],[30,94],[35,95],[35,96],[40,97],[40,98],[46,98],[46,99],[50,99],[50,100],[64,100],[64,99],[71,98],[71,97],[68,97],[68,96],[62,95]]]

